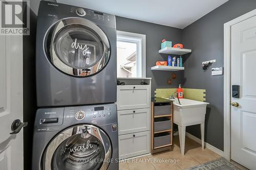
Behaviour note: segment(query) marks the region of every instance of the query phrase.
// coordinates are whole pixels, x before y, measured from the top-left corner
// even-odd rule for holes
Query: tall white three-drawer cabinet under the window
[[[117,86],[119,159],[149,154],[151,79],[117,80],[125,83]]]

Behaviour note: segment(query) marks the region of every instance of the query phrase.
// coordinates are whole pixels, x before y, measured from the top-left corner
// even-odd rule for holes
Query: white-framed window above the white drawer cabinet
[[[117,31],[117,77],[146,77],[146,35]]]

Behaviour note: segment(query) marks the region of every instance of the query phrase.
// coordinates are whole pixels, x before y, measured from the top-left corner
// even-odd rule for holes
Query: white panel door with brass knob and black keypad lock
[[[231,103],[231,159],[256,169],[256,16],[231,27],[231,85],[240,98]]]

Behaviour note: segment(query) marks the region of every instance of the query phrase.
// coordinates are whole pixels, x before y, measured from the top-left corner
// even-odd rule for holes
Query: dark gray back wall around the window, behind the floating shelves
[[[167,84],[167,79],[172,78],[172,72],[152,71],[151,67],[156,65],[156,61],[167,61],[168,55],[160,55],[161,40],[173,41],[173,44],[181,42],[182,30],[157,25],[155,23],[139,21],[135,19],[116,17],[116,27],[119,31],[127,31],[146,35],[146,77],[152,78],[152,96],[156,88],[177,87],[182,82],[183,72],[176,72],[177,79],[172,85]]]

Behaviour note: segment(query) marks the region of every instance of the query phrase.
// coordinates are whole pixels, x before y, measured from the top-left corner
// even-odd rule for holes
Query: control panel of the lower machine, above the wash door
[[[106,125],[117,122],[116,104],[40,108],[35,132],[59,131],[76,124]]]

